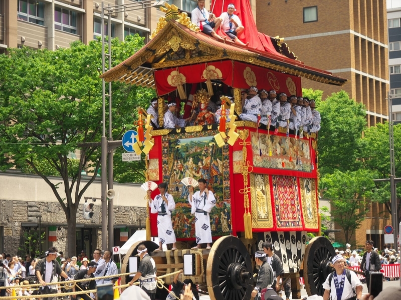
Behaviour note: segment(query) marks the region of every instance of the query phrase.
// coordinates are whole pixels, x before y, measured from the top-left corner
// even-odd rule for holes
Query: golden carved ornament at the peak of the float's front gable
[[[156,29],[153,30],[152,35],[150,38],[153,38],[164,26],[167,24],[169,20],[175,20],[176,22],[184,25],[185,27],[191,29],[192,31],[199,31],[199,27],[191,22],[190,17],[187,15],[186,12],[180,12],[178,7],[174,4],[164,4],[165,7],[160,6],[160,10],[165,13],[165,16],[161,16],[159,21],[157,22]]]

